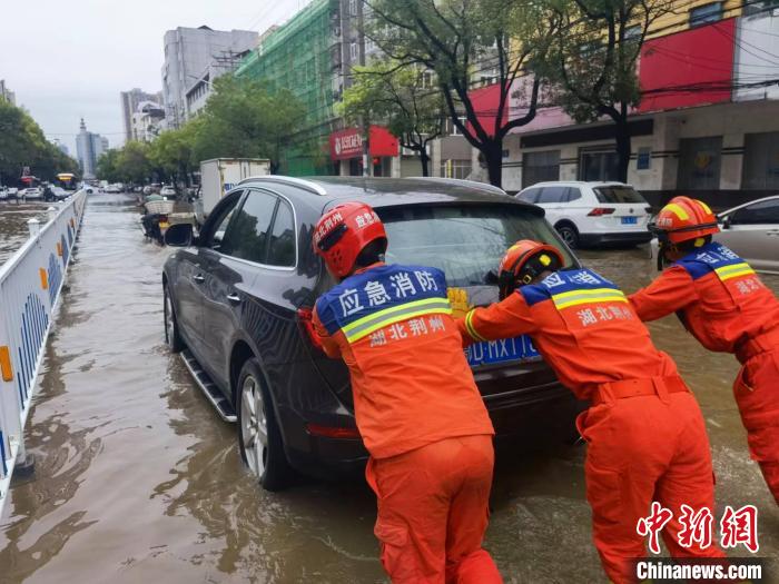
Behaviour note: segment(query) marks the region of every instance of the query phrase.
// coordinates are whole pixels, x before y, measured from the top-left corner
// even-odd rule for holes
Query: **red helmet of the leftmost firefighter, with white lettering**
[[[386,239],[384,224],[368,205],[344,202],[323,215],[314,227],[314,253],[329,270],[343,278],[354,268],[359,253],[371,241]]]

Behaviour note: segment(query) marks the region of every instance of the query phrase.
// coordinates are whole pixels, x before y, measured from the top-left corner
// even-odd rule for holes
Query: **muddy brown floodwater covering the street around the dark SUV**
[[[144,240],[132,205],[89,199],[27,425],[37,479],[11,492],[0,518],[0,582],[386,582],[363,482],[272,494],[241,467],[235,427],[165,347],[169,250]],[[7,212],[0,207],[2,229]],[[645,249],[581,256],[625,291],[655,274]],[[779,290],[779,278],[765,280]],[[723,505],[757,505],[759,555],[779,556],[779,511],[730,394],[736,359],[706,352],[676,318],[651,330],[703,408],[717,517]],[[506,582],[605,582],[583,461],[582,446],[500,453],[485,546]]]

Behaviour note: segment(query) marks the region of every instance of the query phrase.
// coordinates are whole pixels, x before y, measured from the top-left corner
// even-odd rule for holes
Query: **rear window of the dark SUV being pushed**
[[[387,264],[441,268],[450,286],[486,284],[503,254],[520,239],[556,246],[566,266],[573,258],[559,244],[550,225],[521,207],[467,205],[376,209],[385,224]]]

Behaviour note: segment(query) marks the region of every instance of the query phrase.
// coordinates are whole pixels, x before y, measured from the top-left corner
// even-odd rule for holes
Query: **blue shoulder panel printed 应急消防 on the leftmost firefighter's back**
[[[446,297],[446,278],[425,266],[378,266],[349,276],[316,301],[319,320],[331,335],[373,314],[408,303]]]

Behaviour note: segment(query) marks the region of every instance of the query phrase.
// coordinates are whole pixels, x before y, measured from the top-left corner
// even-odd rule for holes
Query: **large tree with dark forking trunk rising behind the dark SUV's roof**
[[[554,22],[543,2],[525,0],[363,0],[371,17],[366,34],[398,68],[421,65],[435,72],[447,116],[486,162],[490,182],[501,186],[503,140],[533,120],[543,79],[526,98],[516,81],[549,46]],[[474,81],[494,81],[494,110],[480,109]],[[524,109],[510,116],[511,101]]]

